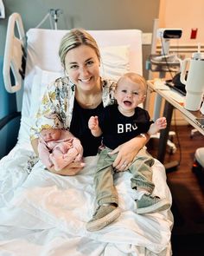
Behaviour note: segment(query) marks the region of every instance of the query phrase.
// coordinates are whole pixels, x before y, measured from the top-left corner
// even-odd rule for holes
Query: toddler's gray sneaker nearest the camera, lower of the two
[[[86,224],[86,230],[97,231],[112,223],[112,221],[116,220],[119,215],[119,207],[113,205],[98,207],[92,216],[92,220],[89,220]]]

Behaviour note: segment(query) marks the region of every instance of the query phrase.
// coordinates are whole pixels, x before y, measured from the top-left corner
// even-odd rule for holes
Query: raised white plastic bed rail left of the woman
[[[19,38],[15,35],[15,27],[17,28]],[[26,62],[25,38],[26,37],[22,25],[22,18],[18,13],[13,13],[10,15],[8,22],[5,51],[3,57],[3,80],[5,89],[9,93],[15,93],[22,88]],[[14,85],[11,84],[10,72],[12,72],[14,75]]]

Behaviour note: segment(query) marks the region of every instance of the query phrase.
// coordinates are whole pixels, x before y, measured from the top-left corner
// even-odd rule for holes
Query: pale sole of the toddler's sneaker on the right
[[[170,208],[170,203],[168,200],[161,200],[155,205],[152,205],[150,207],[143,207],[143,208],[137,208],[136,213],[143,214],[143,213],[156,213],[156,212],[162,212],[164,210],[167,210]]]

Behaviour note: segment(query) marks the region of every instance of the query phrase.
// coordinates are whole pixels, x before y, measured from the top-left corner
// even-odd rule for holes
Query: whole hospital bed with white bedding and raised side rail
[[[10,92],[23,90],[22,117],[16,146],[0,161],[0,256],[171,255],[172,213],[135,213],[137,193],[131,190],[129,172],[118,173],[115,181],[120,217],[90,233],[86,222],[95,208],[92,177],[96,157],[86,157],[86,167],[69,177],[49,173],[35,157],[29,128],[46,86],[63,72],[58,48],[67,31],[30,29],[25,37],[21,28],[20,38],[16,39],[10,32],[15,23],[22,26],[21,16],[16,13],[10,16],[7,35],[11,33],[11,38],[7,36],[3,70],[11,66],[16,76],[12,88],[10,78],[4,80],[6,88]],[[89,32],[99,43],[103,75],[117,79],[129,70],[142,74],[140,30]],[[18,70],[22,73],[19,60],[25,56],[23,80]],[[155,194],[171,201],[165,169],[159,161],[153,166],[153,181]]]

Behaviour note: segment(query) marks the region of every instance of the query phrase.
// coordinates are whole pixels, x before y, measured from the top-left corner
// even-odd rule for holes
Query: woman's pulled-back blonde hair
[[[96,43],[95,39],[86,30],[73,29],[73,30],[70,30],[61,39],[59,56],[61,58],[61,63],[63,67],[65,67],[65,57],[67,55],[67,52],[70,49],[79,47],[80,45],[87,45],[87,46],[90,46],[92,49],[94,49],[100,62],[99,46]]]

